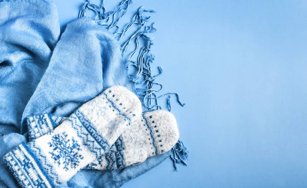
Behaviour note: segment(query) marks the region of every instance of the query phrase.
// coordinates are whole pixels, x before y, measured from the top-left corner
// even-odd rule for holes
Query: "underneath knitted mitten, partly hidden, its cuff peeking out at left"
[[[67,117],[51,114],[28,117],[30,140],[52,133],[65,119]],[[171,113],[163,110],[146,112],[122,133],[110,151],[84,169],[121,169],[142,163],[148,157],[169,151],[178,140],[179,130]]]

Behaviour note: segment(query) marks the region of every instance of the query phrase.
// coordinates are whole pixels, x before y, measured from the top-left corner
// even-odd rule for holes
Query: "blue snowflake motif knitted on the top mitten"
[[[58,166],[63,165],[63,169],[68,171],[70,168],[76,168],[83,156],[80,154],[82,149],[74,138],[67,139],[67,133],[62,132],[60,135],[54,135],[51,142],[48,143],[53,149],[51,158]]]

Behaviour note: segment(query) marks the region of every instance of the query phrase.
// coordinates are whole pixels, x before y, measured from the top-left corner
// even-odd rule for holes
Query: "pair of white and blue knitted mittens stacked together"
[[[31,142],[4,159],[22,187],[55,187],[83,168],[141,163],[168,151],[179,139],[170,113],[141,112],[135,94],[120,86],[109,88],[68,118],[29,117]]]

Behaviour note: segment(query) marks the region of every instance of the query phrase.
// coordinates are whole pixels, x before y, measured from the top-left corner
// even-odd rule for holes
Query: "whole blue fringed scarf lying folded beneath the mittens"
[[[142,16],[143,12],[153,10],[140,8],[121,31],[117,26],[131,3],[124,0],[115,11],[106,12],[103,5],[86,2],[80,18],[69,23],[61,37],[56,7],[51,1],[0,3],[0,186],[19,187],[5,166],[3,156],[27,140],[25,118],[28,116],[45,113],[69,116],[82,103],[115,85],[136,92],[144,111],[161,108],[158,99],[165,95],[157,96],[158,90],[152,89],[160,84],[151,74],[152,39],[146,35],[156,29],[153,24],[145,26],[148,19]],[[84,17],[88,9],[94,10],[99,19]],[[112,19],[115,14],[119,16]],[[134,24],[139,29],[120,43]],[[145,40],[142,48],[140,39]],[[137,48],[126,54],[130,42],[136,42]],[[138,61],[131,61],[137,53]],[[128,75],[127,67],[131,66],[135,72]],[[161,68],[159,70],[162,72]],[[170,96],[175,95],[180,102],[176,93],[167,95],[169,101]],[[175,165],[183,162],[180,152],[187,157],[181,142],[172,151],[125,169],[81,170],[62,187],[119,187],[170,155]]]

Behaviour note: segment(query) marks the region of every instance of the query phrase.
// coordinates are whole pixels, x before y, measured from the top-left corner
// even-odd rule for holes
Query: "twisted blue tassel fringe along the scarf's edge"
[[[126,14],[127,9],[133,0],[122,0],[118,7],[113,11],[106,11],[104,7],[104,0],[101,5],[95,5],[86,0],[79,12],[79,18],[85,16],[87,10],[92,10],[96,14],[94,20],[97,24],[103,25],[106,30],[113,33],[114,37],[121,44],[121,51],[123,57],[123,63],[126,65],[127,71],[129,68],[134,67],[135,71],[132,74],[128,74],[131,82],[134,84],[135,93],[139,96],[142,105],[146,111],[161,110],[159,105],[159,99],[165,96],[167,97],[168,111],[171,111],[171,97],[175,96],[178,103],[184,106],[185,103],[181,102],[177,93],[165,93],[157,95],[163,89],[162,84],[156,82],[156,78],[162,74],[163,70],[158,66],[159,73],[153,75],[151,64],[155,60],[156,56],[150,52],[150,48],[153,45],[153,38],[148,36],[149,33],[156,32],[155,23],[150,21],[150,16],[144,16],[144,13],[155,13],[155,10],[144,9],[144,6],[140,7],[137,13],[131,18],[131,21],[126,23],[122,28],[118,26],[120,19]],[[122,38],[127,35],[127,32],[133,30],[133,34],[128,36],[128,39],[122,41]],[[136,28],[136,29],[135,29]],[[130,43],[135,43],[135,48],[131,52],[127,52]],[[135,60],[133,60],[135,59]],[[158,89],[153,89],[153,87]],[[187,165],[184,160],[188,159],[188,150],[184,146],[181,140],[172,148],[170,158],[173,161],[174,168],[178,170],[177,164]]]

